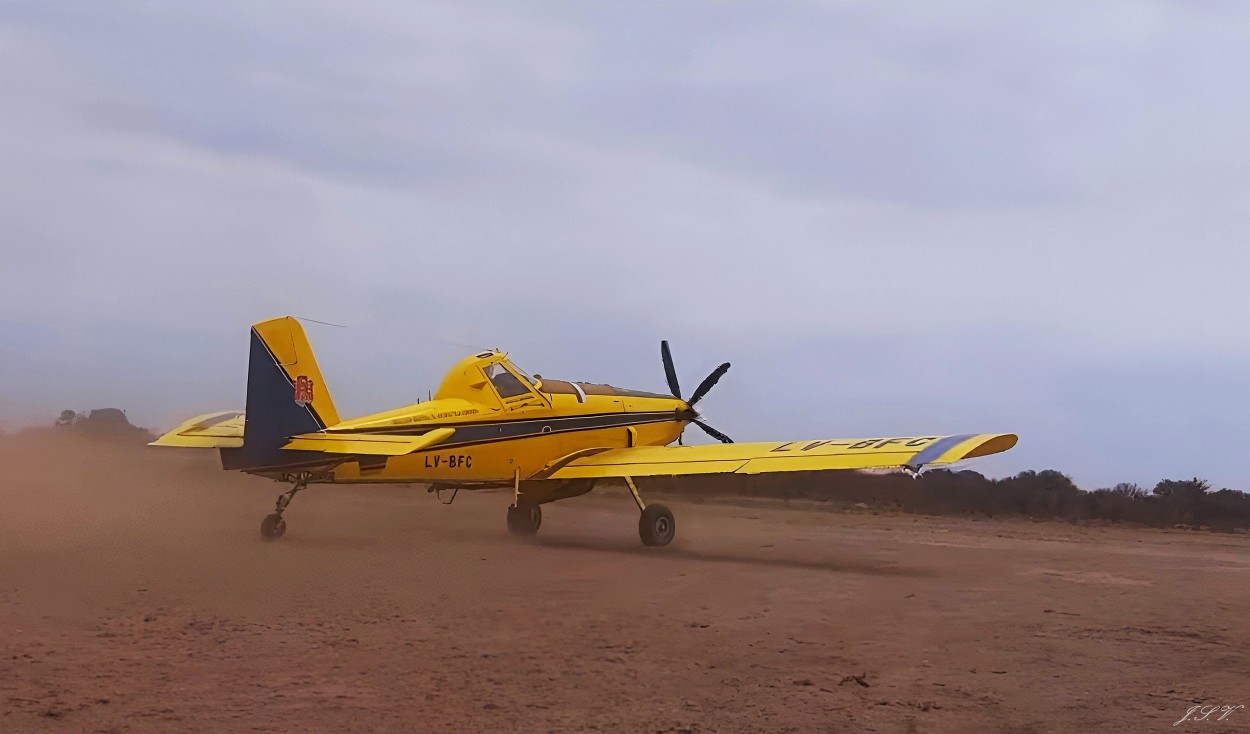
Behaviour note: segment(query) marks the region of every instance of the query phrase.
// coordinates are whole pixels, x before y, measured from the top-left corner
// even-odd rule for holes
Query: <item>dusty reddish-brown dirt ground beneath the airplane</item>
[[[72,450],[70,450],[72,449]],[[280,486],[0,439],[0,731],[1146,731],[1250,705],[1250,539]],[[858,680],[855,676],[860,676]]]

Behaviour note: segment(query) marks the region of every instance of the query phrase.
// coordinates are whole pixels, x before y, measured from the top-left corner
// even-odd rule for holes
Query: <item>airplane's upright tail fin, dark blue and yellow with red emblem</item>
[[[248,359],[246,430],[242,446],[224,449],[228,469],[281,466],[298,461],[284,451],[291,436],[339,423],[321,368],[304,326],[291,316],[251,326]]]

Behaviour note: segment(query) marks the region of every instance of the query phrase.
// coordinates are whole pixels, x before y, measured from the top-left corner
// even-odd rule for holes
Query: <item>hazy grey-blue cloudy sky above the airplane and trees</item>
[[[1250,489],[1250,5],[520,5],[0,0],[0,425],[241,408],[295,314],[346,415],[666,338],[738,440]]]

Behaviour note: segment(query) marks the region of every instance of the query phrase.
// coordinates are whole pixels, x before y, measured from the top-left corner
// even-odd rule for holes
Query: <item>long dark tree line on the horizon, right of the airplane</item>
[[[1105,520],[1225,533],[1250,528],[1250,494],[1232,489],[1212,491],[1210,483],[1198,478],[1165,479],[1151,490],[1125,483],[1092,491],[1080,489],[1071,478],[1054,469],[1021,471],[1005,479],[938,469],[915,479],[906,474],[825,471],[658,478],[651,481],[661,491],[695,496],[738,494],[809,499],[935,515]]]

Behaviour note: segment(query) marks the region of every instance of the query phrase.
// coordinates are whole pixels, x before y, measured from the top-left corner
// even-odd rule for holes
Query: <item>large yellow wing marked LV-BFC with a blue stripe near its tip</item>
[[[538,479],[591,479],[680,474],[769,474],[825,469],[875,469],[952,464],[1006,451],[1014,434],[826,439],[784,444],[718,444],[710,446],[636,446],[591,449],[565,456]]]

